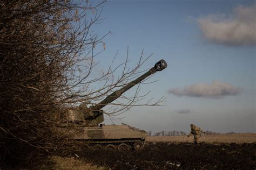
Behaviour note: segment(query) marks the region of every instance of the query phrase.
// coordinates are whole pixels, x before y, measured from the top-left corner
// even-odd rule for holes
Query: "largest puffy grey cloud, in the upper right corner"
[[[256,45],[256,4],[237,6],[232,17],[210,15],[197,22],[203,36],[217,44]]]

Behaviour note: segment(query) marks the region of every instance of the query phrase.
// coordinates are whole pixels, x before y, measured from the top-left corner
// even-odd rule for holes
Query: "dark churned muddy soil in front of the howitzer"
[[[255,169],[256,144],[147,143],[142,151],[78,151],[80,160],[111,169]]]

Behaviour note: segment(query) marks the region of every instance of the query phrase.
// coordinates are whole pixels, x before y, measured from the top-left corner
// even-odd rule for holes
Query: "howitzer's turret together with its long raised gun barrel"
[[[142,76],[138,77],[136,80],[128,83],[122,89],[114,91],[112,94],[107,96],[103,101],[96,105],[92,105],[87,108],[85,105],[80,105],[80,109],[70,109],[68,115],[69,122],[84,122],[87,126],[97,126],[104,121],[103,110],[101,110],[105,105],[113,102],[118,97],[120,97],[125,91],[129,90],[139,82],[142,82],[146,77],[161,71],[167,67],[165,60],[158,61],[154,67],[152,67],[148,72],[144,73]]]

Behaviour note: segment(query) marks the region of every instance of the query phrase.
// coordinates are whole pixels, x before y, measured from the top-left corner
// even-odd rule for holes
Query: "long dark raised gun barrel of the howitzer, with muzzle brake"
[[[133,80],[132,82],[128,83],[125,87],[122,89],[119,89],[117,91],[114,91],[112,94],[107,96],[103,101],[96,104],[91,108],[91,110],[100,110],[108,103],[113,102],[118,97],[120,97],[125,91],[129,90],[131,87],[135,86],[139,82],[143,81],[146,77],[150,76],[151,74],[154,74],[156,72],[160,72],[161,70],[165,69],[167,67],[167,63],[165,60],[158,61],[154,67],[152,67],[148,72],[144,73],[142,76],[138,77],[136,80]]]

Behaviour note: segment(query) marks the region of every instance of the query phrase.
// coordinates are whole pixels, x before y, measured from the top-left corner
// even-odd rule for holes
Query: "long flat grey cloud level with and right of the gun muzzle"
[[[211,84],[198,83],[191,86],[180,88],[171,88],[169,94],[176,96],[205,97],[205,98],[222,98],[224,96],[238,95],[241,88],[234,87],[228,83],[213,81]]]

